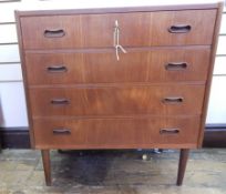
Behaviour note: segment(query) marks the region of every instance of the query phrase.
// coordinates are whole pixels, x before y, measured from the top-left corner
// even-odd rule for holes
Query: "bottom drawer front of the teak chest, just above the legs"
[[[34,120],[38,149],[133,149],[196,145],[198,118]]]

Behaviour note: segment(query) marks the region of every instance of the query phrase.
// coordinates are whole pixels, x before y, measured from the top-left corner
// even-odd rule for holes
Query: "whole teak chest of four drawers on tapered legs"
[[[202,146],[222,3],[16,11],[32,147]]]

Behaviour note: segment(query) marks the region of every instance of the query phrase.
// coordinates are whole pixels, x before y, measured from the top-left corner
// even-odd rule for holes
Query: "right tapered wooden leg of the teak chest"
[[[177,186],[181,186],[184,178],[184,173],[187,164],[189,149],[182,149],[179,154],[178,172],[177,172]]]

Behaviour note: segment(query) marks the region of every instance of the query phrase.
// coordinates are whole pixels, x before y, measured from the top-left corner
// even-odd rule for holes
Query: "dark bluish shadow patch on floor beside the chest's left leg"
[[[106,182],[107,172],[113,157],[106,157],[102,151],[63,151],[52,162],[55,183],[79,183],[82,185],[100,185]],[[56,157],[56,159],[58,159]]]

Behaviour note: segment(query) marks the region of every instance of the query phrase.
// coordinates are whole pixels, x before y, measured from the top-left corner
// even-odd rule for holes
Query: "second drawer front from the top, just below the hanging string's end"
[[[209,50],[27,53],[29,84],[205,81]],[[137,73],[138,72],[138,73]]]

